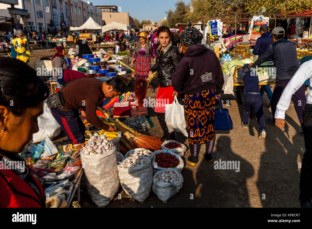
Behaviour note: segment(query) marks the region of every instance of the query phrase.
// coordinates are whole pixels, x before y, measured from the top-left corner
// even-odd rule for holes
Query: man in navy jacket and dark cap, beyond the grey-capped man
[[[273,44],[272,34],[269,32],[269,27],[267,25],[260,26],[260,34],[261,37],[259,37],[256,41],[256,45],[254,49],[252,50],[253,55],[259,55],[261,56],[268,47]],[[272,58],[270,58],[267,61],[272,61]],[[268,95],[268,98],[270,101],[272,100],[272,91],[270,88],[270,85],[262,85],[260,89],[260,94],[263,96],[264,92]],[[269,104],[269,107],[271,106],[271,103]]]

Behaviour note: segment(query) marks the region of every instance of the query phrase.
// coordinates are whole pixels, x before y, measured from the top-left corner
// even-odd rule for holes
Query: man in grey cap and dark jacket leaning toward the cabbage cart
[[[270,45],[269,48],[255,61],[250,64],[251,67],[256,68],[263,62],[273,59],[275,64],[275,88],[272,94],[271,100],[271,111],[273,114],[272,118],[266,118],[266,121],[275,126],[274,115],[276,111],[276,105],[282,95],[287,83],[293,77],[295,72],[299,69],[296,46],[293,42],[283,39],[285,31],[282,27],[276,27],[272,30],[272,37],[274,44]],[[305,85],[302,86],[292,96],[292,101],[298,116],[298,119],[303,128],[303,110],[306,104],[305,98]],[[300,132],[303,135],[303,131]]]

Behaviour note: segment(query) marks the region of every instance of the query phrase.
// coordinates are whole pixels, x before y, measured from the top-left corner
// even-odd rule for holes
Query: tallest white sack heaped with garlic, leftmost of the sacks
[[[80,157],[89,195],[98,207],[105,207],[119,188],[116,146],[103,135],[90,136]]]

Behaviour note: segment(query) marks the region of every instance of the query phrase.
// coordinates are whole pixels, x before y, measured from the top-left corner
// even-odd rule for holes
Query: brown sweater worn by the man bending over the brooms
[[[75,79],[65,88],[61,89],[65,100],[64,107],[85,110],[86,120],[93,126],[108,130],[109,126],[103,123],[96,115],[96,107],[105,97],[102,91],[103,82],[93,77],[84,77]],[[85,106],[85,107],[84,107]],[[61,108],[62,111],[70,111],[70,109]]]

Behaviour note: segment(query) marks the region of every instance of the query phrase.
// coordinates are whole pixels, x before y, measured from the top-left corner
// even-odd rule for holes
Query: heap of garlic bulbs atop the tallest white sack
[[[97,133],[90,136],[88,143],[82,147],[81,152],[86,155],[104,154],[108,150],[112,150],[114,144],[108,141],[106,136],[102,134],[99,136]]]

